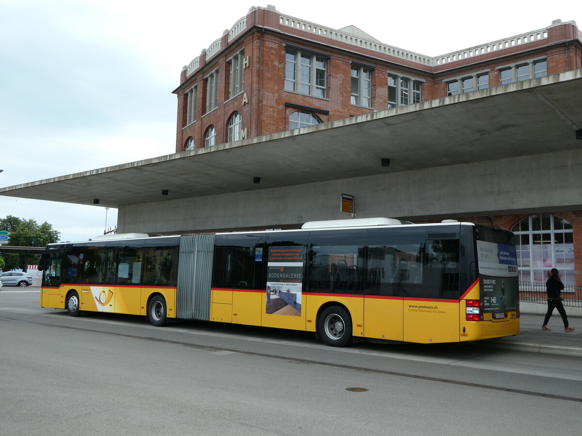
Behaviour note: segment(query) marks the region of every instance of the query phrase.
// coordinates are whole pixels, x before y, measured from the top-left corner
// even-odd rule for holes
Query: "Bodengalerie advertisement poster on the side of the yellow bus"
[[[269,247],[266,313],[301,316],[302,286],[303,246]]]

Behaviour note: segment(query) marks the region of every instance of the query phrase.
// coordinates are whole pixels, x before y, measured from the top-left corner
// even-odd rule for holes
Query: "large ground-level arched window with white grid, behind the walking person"
[[[521,281],[545,283],[549,271],[558,268],[564,284],[576,283],[572,224],[559,216],[541,213],[524,218],[511,231],[516,235]]]

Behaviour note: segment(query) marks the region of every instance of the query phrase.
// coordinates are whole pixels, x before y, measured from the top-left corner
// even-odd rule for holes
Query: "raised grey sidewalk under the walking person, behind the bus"
[[[567,308],[566,313],[568,313]],[[485,342],[496,348],[582,357],[582,317],[568,316],[568,321],[570,327],[576,328],[576,330],[566,333],[562,317],[560,317],[558,310],[554,310],[554,314],[548,322],[548,327],[552,331],[544,331],[542,330],[544,315],[522,313],[518,335]]]

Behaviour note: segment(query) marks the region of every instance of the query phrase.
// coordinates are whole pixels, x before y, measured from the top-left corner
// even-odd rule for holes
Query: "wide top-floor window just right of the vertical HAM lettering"
[[[327,58],[288,48],[285,51],[285,90],[325,98]]]

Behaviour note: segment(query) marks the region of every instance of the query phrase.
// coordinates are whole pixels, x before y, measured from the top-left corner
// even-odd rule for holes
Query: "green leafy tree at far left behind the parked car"
[[[24,220],[12,215],[0,219],[0,230],[10,232],[10,246],[45,246],[52,242],[57,242],[61,233],[54,230],[51,224],[46,221],[37,224],[35,220]],[[0,246],[0,251],[2,246]],[[9,271],[15,268],[26,267],[27,264],[38,263],[37,255],[27,254],[0,254],[0,264],[5,262],[3,270]]]

